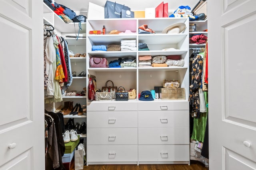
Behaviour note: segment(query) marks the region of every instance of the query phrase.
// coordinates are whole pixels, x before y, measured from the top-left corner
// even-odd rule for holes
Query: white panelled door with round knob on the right
[[[256,1],[208,0],[209,167],[256,169]]]

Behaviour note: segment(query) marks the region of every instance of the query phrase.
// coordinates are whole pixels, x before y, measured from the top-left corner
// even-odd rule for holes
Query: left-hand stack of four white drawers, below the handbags
[[[138,164],[138,104],[94,102],[87,108],[87,164]]]

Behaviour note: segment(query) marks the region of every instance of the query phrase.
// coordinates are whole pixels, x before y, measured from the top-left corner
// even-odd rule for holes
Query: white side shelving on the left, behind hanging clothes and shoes
[[[73,37],[66,37],[67,34],[76,35],[79,30],[79,23],[65,23],[57,14],[55,14],[46,4],[44,4],[44,24],[50,24],[54,27],[54,31],[57,35],[62,36],[66,39],[68,43],[68,49],[71,50],[74,54],[76,53],[86,53],[86,37],[79,37],[78,39]],[[86,23],[81,23],[81,34],[86,33]],[[70,57],[71,70],[72,72],[76,71],[76,77],[73,77],[72,84],[68,87],[68,92],[76,90],[80,92],[83,88],[86,88],[86,57]],[[80,74],[84,71],[85,76],[79,77]],[[59,103],[54,103],[51,107],[54,111],[55,108],[64,106],[64,102],[73,101],[73,105],[80,103],[86,105],[86,96],[62,96],[63,101]],[[84,115],[64,115],[65,123],[69,118],[74,118],[76,122],[86,122],[86,114]],[[80,134],[80,137],[87,137],[87,135]]]

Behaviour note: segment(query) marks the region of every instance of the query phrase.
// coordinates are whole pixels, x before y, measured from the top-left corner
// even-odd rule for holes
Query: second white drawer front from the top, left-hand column
[[[138,127],[138,111],[87,111],[87,127]]]

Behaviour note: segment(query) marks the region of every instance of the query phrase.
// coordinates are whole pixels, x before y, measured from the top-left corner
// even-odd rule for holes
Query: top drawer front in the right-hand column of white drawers
[[[189,110],[189,102],[139,102],[138,110]]]

